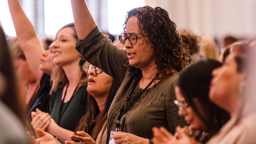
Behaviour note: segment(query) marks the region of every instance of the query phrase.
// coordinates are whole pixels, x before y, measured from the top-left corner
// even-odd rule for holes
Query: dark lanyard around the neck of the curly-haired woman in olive
[[[159,75],[159,73],[157,73],[156,76],[155,76],[154,78],[152,78],[152,80],[149,82],[149,84],[137,95],[137,97],[135,98],[135,101],[140,97],[141,94],[143,94],[143,93],[146,91],[146,89],[152,84],[152,82],[155,80],[155,78],[156,78],[158,75]],[[136,84],[138,84],[139,81],[140,81],[140,78],[137,80]],[[120,126],[120,125],[119,125],[119,121],[120,121],[120,119],[121,119],[121,117],[122,117],[122,115],[123,115],[123,113],[124,113],[124,111],[125,111],[125,110],[124,110],[124,105],[125,105],[126,102],[129,103],[130,96],[133,94],[133,92],[134,92],[136,86],[137,86],[137,85],[135,85],[135,86],[133,87],[132,92],[130,93],[130,95],[129,95],[127,98],[125,98],[125,100],[124,100],[123,103],[122,103],[122,106],[121,106],[121,108],[120,108],[120,113],[119,113],[119,116],[118,116],[118,119],[117,119],[117,123],[116,123],[116,132],[119,131],[119,126]],[[128,106],[128,107],[129,107],[129,106]]]

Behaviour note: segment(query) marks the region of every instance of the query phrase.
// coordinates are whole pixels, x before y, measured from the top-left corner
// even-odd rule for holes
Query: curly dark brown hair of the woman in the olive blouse
[[[139,30],[144,36],[147,35],[146,43],[151,45],[156,55],[157,70],[159,76],[156,79],[162,79],[171,74],[172,70],[181,71],[190,63],[189,50],[186,48],[176,30],[176,24],[170,20],[166,10],[150,6],[138,7],[127,12],[124,23],[123,34],[126,30],[126,24],[131,16],[137,16]],[[128,58],[124,65],[134,75],[140,73],[140,69],[129,65]]]

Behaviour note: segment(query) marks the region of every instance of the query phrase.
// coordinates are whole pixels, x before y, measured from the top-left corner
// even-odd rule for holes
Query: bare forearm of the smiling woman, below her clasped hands
[[[74,132],[64,129],[58,125],[50,125],[47,128],[47,132],[56,136],[59,140],[65,142],[66,140],[71,141],[70,135],[73,135]]]

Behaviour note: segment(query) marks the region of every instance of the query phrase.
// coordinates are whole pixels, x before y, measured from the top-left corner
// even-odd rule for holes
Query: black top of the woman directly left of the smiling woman
[[[40,109],[43,112],[49,113],[50,109],[50,90],[51,90],[51,84],[50,84],[51,77],[44,73],[43,77],[40,81],[40,87],[35,94],[35,96],[29,101],[27,107],[26,107],[26,116],[27,116],[27,124],[26,128],[27,130],[33,131],[33,127],[31,125],[31,112],[36,111],[36,108]],[[34,133],[30,133],[31,135],[35,135]]]

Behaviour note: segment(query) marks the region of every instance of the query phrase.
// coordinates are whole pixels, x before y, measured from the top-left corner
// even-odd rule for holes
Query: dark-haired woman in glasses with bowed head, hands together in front
[[[155,144],[205,143],[229,120],[229,114],[209,99],[212,70],[221,65],[217,60],[206,59],[181,72],[174,103],[189,127],[177,128],[174,136],[163,127],[155,127],[152,129]]]

